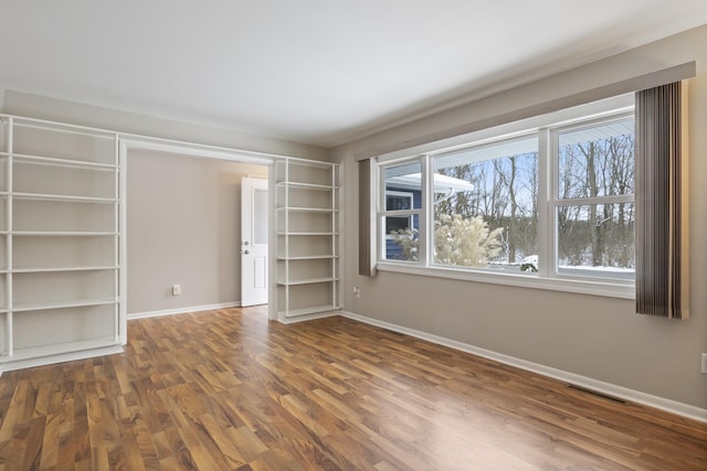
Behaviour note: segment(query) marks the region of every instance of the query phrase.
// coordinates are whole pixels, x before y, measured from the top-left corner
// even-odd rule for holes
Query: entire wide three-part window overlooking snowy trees
[[[529,280],[524,286],[632,286],[634,117],[632,100],[621,104],[381,158],[379,268]]]

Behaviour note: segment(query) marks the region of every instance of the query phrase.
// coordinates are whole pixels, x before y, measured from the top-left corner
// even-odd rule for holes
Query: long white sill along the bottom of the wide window
[[[494,274],[451,267],[422,267],[394,261],[378,261],[376,268],[380,271],[393,271],[424,277],[505,285],[518,288],[546,289],[551,291],[603,296],[608,298],[635,299],[635,285],[633,281],[541,278],[537,275]]]

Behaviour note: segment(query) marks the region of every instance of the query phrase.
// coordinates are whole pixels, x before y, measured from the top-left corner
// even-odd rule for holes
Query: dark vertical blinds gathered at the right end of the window
[[[635,99],[636,312],[671,319],[689,314],[680,95],[676,82]]]

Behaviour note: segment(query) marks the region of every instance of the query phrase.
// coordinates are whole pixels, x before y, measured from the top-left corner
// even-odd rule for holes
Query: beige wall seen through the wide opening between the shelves
[[[241,178],[266,179],[267,171],[264,165],[128,152],[128,317],[241,301]],[[176,283],[180,296],[171,295]]]

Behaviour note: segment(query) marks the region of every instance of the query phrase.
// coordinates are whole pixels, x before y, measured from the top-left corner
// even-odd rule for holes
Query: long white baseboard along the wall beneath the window
[[[581,376],[574,373],[564,372],[562,370],[545,366],[539,363],[528,362],[526,360],[516,358],[515,356],[504,355],[490,350],[481,349],[478,346],[469,345],[467,343],[458,342],[455,340],[446,339],[443,336],[434,335],[431,333],[422,332],[414,329],[409,329],[402,325],[393,324],[390,322],[379,321],[366,315],[357,314],[349,311],[340,311],[339,315],[352,319],[359,322],[363,322],[370,325],[376,325],[382,329],[388,329],[393,332],[403,333],[418,339],[426,340],[439,345],[449,346],[454,350],[471,353],[473,355],[482,356],[484,358],[493,360],[505,365],[515,366],[520,370],[526,370],[532,373],[540,374],[542,376],[549,376],[555,379],[559,379],[564,383],[569,383],[576,386],[580,386],[587,389],[595,390],[608,396],[613,396],[630,400],[645,406],[655,407],[656,409],[665,410],[678,416],[687,417],[701,422],[707,422],[707,409],[690,406],[688,404],[678,403],[676,400],[666,399],[651,394],[641,393],[640,390],[630,389],[627,387],[618,386],[611,383],[604,383],[602,381],[592,379],[587,376]]]

